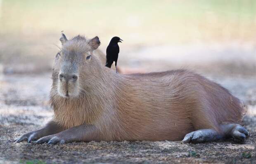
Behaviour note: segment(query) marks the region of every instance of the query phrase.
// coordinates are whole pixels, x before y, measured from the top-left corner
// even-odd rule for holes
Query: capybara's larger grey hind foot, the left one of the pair
[[[210,141],[217,141],[222,137],[213,129],[201,129],[186,134],[181,143],[203,143]]]

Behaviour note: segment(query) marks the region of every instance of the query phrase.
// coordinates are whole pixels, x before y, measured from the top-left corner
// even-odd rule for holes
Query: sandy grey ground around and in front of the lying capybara
[[[256,163],[256,79],[210,76],[248,106],[244,125],[250,136],[202,144],[161,142],[90,142],[64,145],[14,143],[52,117],[48,106],[50,73],[0,76],[0,163]]]

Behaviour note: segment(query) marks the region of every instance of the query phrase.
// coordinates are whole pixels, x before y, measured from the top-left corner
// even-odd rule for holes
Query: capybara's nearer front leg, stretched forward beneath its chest
[[[100,131],[93,125],[79,125],[71,127],[57,134],[45,136],[36,141],[36,143],[67,143],[75,141],[100,141],[102,135]]]

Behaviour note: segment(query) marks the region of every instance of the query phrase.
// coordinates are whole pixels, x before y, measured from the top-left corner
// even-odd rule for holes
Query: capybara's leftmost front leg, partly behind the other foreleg
[[[28,142],[30,142],[33,140],[40,139],[43,136],[48,136],[51,134],[59,133],[63,130],[64,130],[64,128],[61,127],[60,125],[58,125],[56,122],[50,121],[45,125],[45,127],[35,130],[35,131],[32,131],[32,132],[28,132],[26,134],[23,134],[22,136],[18,137],[14,141],[19,143],[21,141],[28,140]]]

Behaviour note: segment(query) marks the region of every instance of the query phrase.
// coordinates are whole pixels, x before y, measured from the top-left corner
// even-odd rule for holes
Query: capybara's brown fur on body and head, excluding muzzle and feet
[[[62,48],[84,56],[88,49],[79,36]],[[79,66],[80,94],[69,98],[58,94],[62,60],[55,60],[50,103],[59,125],[94,125],[99,141],[180,140],[198,129],[219,131],[220,124],[240,122],[244,113],[228,90],[187,70],[121,75],[93,54],[89,62],[84,60]]]

